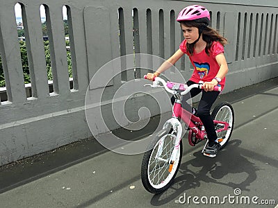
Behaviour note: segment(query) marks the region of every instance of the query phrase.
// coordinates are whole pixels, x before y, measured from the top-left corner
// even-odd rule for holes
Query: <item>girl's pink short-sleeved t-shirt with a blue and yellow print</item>
[[[194,67],[193,74],[189,80],[199,83],[200,80],[210,82],[215,78],[220,69],[218,62],[215,60],[215,56],[224,53],[224,47],[220,42],[213,42],[211,50],[209,51],[209,56],[206,54],[205,49],[199,53],[196,53],[194,50],[193,55],[190,55],[186,51],[186,40],[181,42],[179,49],[189,56],[190,62]],[[224,89],[225,78],[221,80],[219,85]]]

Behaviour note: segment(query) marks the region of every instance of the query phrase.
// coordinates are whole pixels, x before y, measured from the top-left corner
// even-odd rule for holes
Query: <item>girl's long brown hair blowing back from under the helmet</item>
[[[209,55],[209,51],[214,41],[220,42],[222,46],[227,44],[227,39],[220,35],[218,31],[215,31],[213,28],[206,26],[204,23],[199,23],[196,21],[180,21],[180,24],[183,24],[187,27],[196,27],[199,29],[199,33],[202,33],[202,38],[206,42],[206,54]],[[186,43],[186,50],[190,55],[193,55],[195,44]]]

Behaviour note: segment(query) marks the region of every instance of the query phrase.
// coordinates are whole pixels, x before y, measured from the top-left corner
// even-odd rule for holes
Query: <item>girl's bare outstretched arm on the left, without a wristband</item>
[[[167,69],[172,67],[172,65],[174,65],[181,58],[181,56],[183,56],[183,54],[184,53],[183,51],[181,51],[181,49],[177,50],[176,53],[174,53],[168,60],[161,64],[161,66],[156,70],[156,72],[147,73],[147,79],[153,80],[154,77],[159,76],[161,73],[163,73],[163,71],[166,71]]]

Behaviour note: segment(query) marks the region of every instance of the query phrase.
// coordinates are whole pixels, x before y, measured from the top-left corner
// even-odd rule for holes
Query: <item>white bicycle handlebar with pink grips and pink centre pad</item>
[[[144,78],[147,79],[147,76],[145,75]],[[167,92],[169,92],[170,94],[175,94],[175,90],[177,90],[177,89],[183,91],[183,92],[181,92],[181,95],[187,94],[193,88],[204,89],[203,83],[198,83],[198,84],[193,84],[193,85],[188,86],[186,84],[181,84],[181,83],[166,82],[165,80],[163,80],[163,78],[160,78],[160,77],[154,77],[153,84],[149,85],[149,86],[158,87],[159,83],[161,83],[163,85],[163,87],[165,88],[165,90]],[[219,91],[220,92],[221,87],[220,86],[215,86],[213,91]]]

